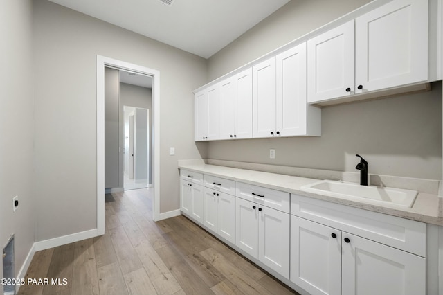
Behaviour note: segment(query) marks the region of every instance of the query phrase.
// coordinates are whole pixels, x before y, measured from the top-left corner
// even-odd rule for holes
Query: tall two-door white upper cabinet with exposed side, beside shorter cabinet
[[[253,136],[320,136],[321,110],[307,107],[306,43],[253,67]]]

